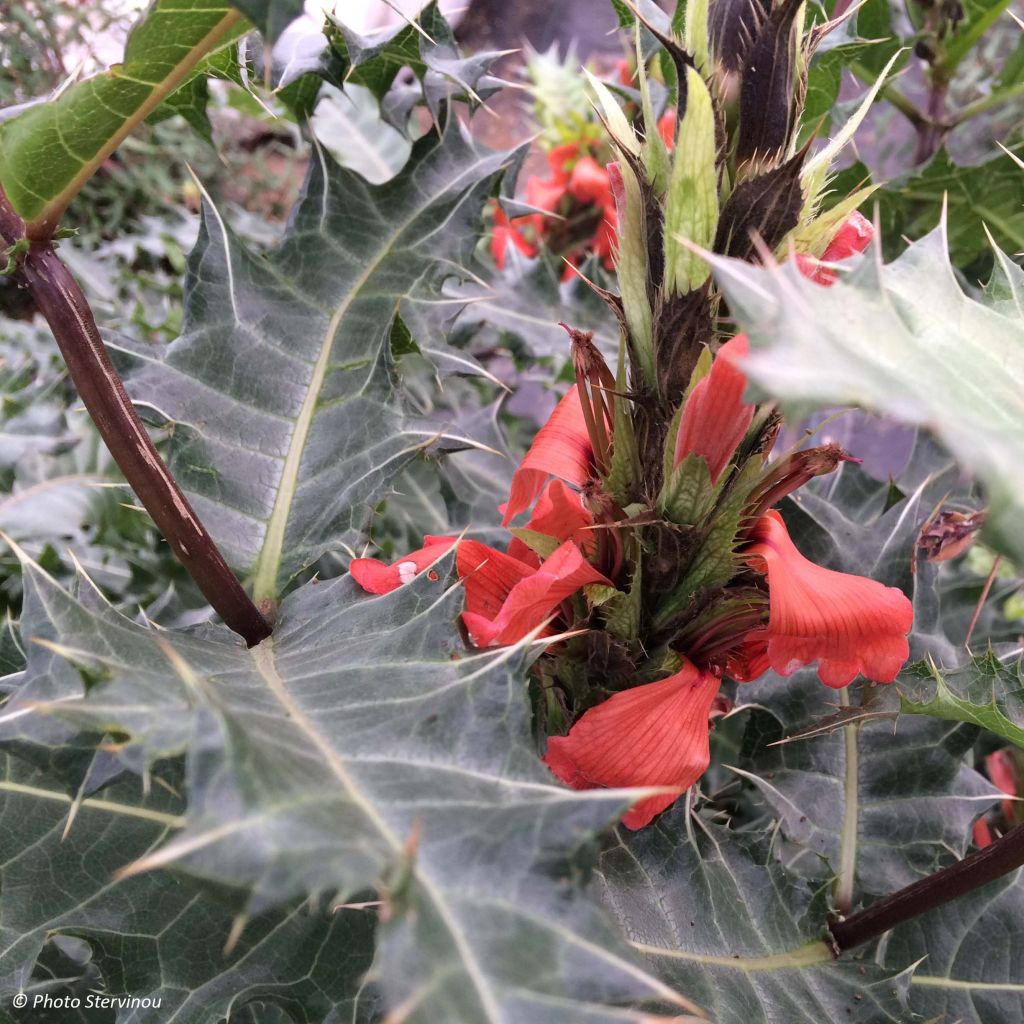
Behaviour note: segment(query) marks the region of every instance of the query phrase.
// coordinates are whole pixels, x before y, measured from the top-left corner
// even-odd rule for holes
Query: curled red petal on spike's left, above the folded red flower
[[[504,513],[502,525],[507,526],[529,507],[549,476],[582,487],[590,479],[593,463],[583,406],[573,384],[541,427],[513,474],[509,500],[500,509]]]

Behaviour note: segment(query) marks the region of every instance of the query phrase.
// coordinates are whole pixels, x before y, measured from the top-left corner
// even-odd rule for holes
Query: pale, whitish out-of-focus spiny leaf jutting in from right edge
[[[934,430],[985,485],[992,544],[1024,560],[1024,273],[995,255],[985,299],[964,293],[944,224],[833,288],[792,265],[715,266],[751,335],[753,381],[794,407],[860,404]]]

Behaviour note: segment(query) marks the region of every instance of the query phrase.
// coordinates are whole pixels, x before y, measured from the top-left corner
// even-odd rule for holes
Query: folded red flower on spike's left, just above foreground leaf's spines
[[[486,545],[464,541],[456,564],[466,585],[462,621],[477,647],[517,643],[581,587],[610,586],[571,541],[536,569]]]

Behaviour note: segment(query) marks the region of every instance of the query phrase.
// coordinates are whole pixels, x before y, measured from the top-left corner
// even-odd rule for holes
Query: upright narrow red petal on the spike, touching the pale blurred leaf
[[[727,341],[715,356],[711,373],[686,399],[676,435],[676,465],[688,455],[708,460],[712,482],[717,482],[754,419],[755,407],[743,401],[746,376],[737,359],[750,351],[745,334]]]

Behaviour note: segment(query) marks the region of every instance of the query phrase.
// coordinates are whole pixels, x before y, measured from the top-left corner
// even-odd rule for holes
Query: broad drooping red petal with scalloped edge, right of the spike
[[[909,653],[913,607],[903,592],[808,561],[775,511],[753,536],[743,557],[768,574],[771,668],[787,676],[816,660],[826,686],[846,686],[858,674],[891,683]]]

